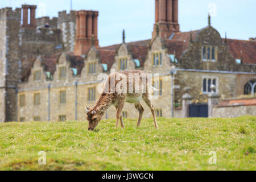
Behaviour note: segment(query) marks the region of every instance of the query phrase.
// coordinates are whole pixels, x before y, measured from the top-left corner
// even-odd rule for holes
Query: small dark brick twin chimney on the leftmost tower
[[[30,10],[30,24],[28,24],[28,9]],[[35,18],[35,5],[22,5],[23,10],[23,23],[22,27],[36,28],[36,18]]]

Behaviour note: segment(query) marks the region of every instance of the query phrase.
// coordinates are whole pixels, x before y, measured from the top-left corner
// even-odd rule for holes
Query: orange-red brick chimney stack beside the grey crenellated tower
[[[94,46],[98,47],[98,11],[77,11],[75,55],[85,55],[89,51],[92,35]]]

